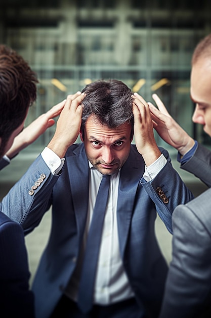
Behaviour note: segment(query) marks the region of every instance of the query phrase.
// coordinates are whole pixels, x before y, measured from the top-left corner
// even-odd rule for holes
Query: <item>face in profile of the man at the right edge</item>
[[[193,122],[203,125],[211,137],[211,61],[199,58],[191,71],[191,98],[196,103]]]

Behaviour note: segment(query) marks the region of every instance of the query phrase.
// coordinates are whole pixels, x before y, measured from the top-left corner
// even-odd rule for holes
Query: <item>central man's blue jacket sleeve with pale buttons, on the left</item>
[[[15,183],[0,203],[0,209],[22,225],[28,234],[38,226],[51,206],[51,194],[58,175],[54,176],[39,155],[23,177]]]

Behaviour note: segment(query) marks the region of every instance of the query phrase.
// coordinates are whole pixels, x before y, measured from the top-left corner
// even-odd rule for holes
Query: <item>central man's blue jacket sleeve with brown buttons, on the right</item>
[[[162,149],[162,153],[167,159],[166,165],[153,180],[147,182],[142,178],[141,184],[154,202],[157,213],[167,230],[173,233],[173,211],[179,204],[185,204],[193,200],[194,196],[173,168],[168,152]]]

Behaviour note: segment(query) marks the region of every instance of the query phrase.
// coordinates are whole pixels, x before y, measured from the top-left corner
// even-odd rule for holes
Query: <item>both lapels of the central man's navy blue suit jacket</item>
[[[73,153],[75,155],[67,157],[67,165],[75,217],[81,239],[87,219],[90,169],[83,144]],[[130,229],[137,188],[141,186],[139,181],[144,173],[144,166],[142,156],[132,146],[129,158],[121,168],[118,188],[117,223],[122,256]]]

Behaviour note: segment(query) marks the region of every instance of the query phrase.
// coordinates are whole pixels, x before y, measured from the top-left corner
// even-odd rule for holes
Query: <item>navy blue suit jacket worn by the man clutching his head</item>
[[[117,201],[123,266],[141,310],[149,317],[158,315],[167,274],[154,231],[156,214],[172,231],[173,210],[193,199],[173,169],[167,151],[161,151],[167,164],[151,182],[146,182],[142,178],[143,158],[136,146],[131,145],[129,158],[120,172]],[[2,210],[10,212],[10,217],[22,224],[25,233],[38,226],[52,205],[50,238],[32,287],[37,318],[49,317],[74,272],[86,225],[89,173],[83,143],[74,144],[66,153],[61,175],[52,175],[39,156],[2,201]],[[30,195],[31,186],[41,176],[43,181]],[[168,203],[163,202],[157,187],[162,188]]]

